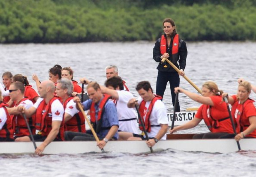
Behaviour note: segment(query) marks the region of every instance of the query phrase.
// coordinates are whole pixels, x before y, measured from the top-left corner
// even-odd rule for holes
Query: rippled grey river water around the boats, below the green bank
[[[55,64],[71,67],[74,79],[87,77],[103,84],[105,67],[117,65],[119,75],[135,96],[135,86],[147,80],[155,90],[158,63],[153,60],[154,42],[97,42],[79,44],[8,44],[0,45],[1,73],[11,71],[41,81]],[[198,87],[215,81],[229,94],[237,92],[237,79],[256,84],[256,42],[187,42],[186,76]],[[196,92],[181,78],[181,87]],[[256,99],[251,93],[250,98]],[[172,111],[167,86],[163,102]],[[181,109],[200,104],[179,94]],[[204,126],[183,131],[207,131]],[[0,144],[1,148],[1,144]],[[225,147],[223,147],[225,148]],[[255,176],[256,153],[253,151],[211,154],[167,150],[155,154],[88,153],[78,155],[0,155],[1,176]]]

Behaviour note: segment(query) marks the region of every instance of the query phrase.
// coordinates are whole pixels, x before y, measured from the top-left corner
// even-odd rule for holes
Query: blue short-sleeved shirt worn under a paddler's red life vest
[[[102,98],[103,99],[103,98]],[[98,102],[95,103],[95,116],[96,116],[96,120],[98,118],[98,108],[99,108],[99,104],[101,103],[102,99]],[[91,107],[91,99],[86,100],[85,102],[82,103],[83,105],[83,109],[84,110],[89,110]],[[102,127],[111,127],[113,125],[118,125],[118,117],[117,117],[117,108],[115,107],[115,104],[108,100],[104,106],[104,112],[102,115]],[[107,135],[107,133],[109,132],[109,130],[101,130],[97,135],[101,136],[101,137],[105,137]],[[118,133],[116,132],[113,136],[114,138],[118,138]]]

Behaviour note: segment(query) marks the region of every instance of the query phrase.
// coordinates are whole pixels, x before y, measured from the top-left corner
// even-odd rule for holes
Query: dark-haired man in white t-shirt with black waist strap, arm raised
[[[133,94],[123,90],[121,77],[114,76],[106,80],[105,86],[101,86],[102,93],[111,95],[119,119],[119,131],[138,134],[138,122],[135,111],[127,107],[127,103],[133,98]],[[122,139],[121,136],[119,136]]]

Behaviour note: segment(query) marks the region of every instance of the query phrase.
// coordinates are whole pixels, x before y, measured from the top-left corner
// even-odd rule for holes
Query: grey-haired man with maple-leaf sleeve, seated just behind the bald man
[[[55,93],[62,99],[64,106],[64,124],[65,131],[82,132],[85,130],[85,117],[82,112],[78,111],[73,101],[73,83],[67,78],[62,78],[57,81]]]

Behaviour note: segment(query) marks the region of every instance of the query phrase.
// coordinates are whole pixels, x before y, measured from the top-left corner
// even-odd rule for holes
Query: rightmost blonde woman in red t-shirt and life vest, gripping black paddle
[[[249,98],[250,93],[251,84],[243,81],[238,85],[237,95],[229,96],[231,115],[237,124],[236,141],[246,137],[256,138],[256,108],[254,100]],[[224,93],[224,96],[227,96],[227,93]]]

